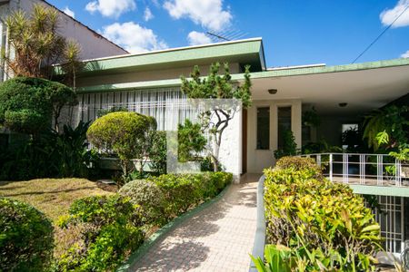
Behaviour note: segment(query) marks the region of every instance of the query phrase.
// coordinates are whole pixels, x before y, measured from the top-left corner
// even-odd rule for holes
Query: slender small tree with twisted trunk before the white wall
[[[185,92],[187,97],[192,99],[238,99],[241,100],[244,109],[248,108],[252,102],[250,66],[245,66],[243,84],[232,81],[228,63],[224,63],[223,74],[219,73],[220,70],[220,63],[213,63],[207,77],[202,78],[199,67],[196,65],[191,73],[191,79],[181,77],[182,92]],[[238,107],[217,107],[204,112],[201,116],[203,128],[212,135],[213,146],[210,155],[213,160],[214,171],[218,170],[223,132],[238,110]]]

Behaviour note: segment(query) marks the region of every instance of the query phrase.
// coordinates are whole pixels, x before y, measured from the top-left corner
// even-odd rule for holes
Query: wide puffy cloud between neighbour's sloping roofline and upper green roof
[[[159,40],[152,29],[134,22],[105,25],[101,34],[131,53],[144,53],[167,48],[167,44]]]

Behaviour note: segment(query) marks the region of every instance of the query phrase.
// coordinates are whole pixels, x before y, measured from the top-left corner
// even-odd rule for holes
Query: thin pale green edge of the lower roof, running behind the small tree
[[[409,58],[407,59],[394,59],[386,61],[377,61],[370,63],[354,63],[335,66],[313,66],[313,67],[289,67],[285,69],[269,70],[264,72],[251,73],[252,79],[261,79],[268,77],[282,77],[282,76],[296,76],[307,75],[317,73],[342,73],[342,72],[354,72],[368,69],[380,69],[409,65]],[[232,74],[232,79],[239,81],[244,79],[243,73]],[[127,89],[145,89],[155,87],[172,87],[180,85],[180,79],[169,79],[149,82],[135,82],[135,83],[114,83],[106,85],[94,85],[77,88],[77,92],[105,92],[115,90],[127,90]]]

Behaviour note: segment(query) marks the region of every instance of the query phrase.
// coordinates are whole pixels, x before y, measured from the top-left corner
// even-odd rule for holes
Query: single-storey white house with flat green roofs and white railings
[[[280,128],[294,132],[298,147],[321,138],[341,145],[343,127],[354,126],[365,112],[389,102],[404,102],[403,97],[409,92],[409,59],[266,68],[263,46],[262,39],[255,38],[86,61],[86,72],[78,78],[80,104],[76,121],[92,121],[100,109],[120,105],[154,116],[159,129],[164,130],[168,123],[186,117],[195,119],[192,109],[182,111],[180,116],[166,114],[166,101],[185,101],[180,91],[181,74],[188,76],[196,64],[206,72],[211,63],[228,62],[234,81],[240,83],[244,65],[251,64],[253,105],[236,115],[221,147],[222,163],[238,177],[246,172],[260,173],[274,165],[273,151],[282,144]],[[312,107],[322,124],[318,129],[306,130],[303,112]],[[324,155],[315,158],[324,160]],[[387,211],[387,215],[376,215],[386,238],[384,245],[399,254],[404,240],[409,239],[408,220],[404,220],[409,211],[407,178],[386,179],[382,159],[378,159],[378,176],[367,179],[362,170],[370,167],[365,164],[368,157],[362,155],[354,160],[357,162],[348,155],[331,158],[333,164],[342,165],[327,173],[331,180],[350,183],[357,193],[377,196]],[[360,165],[361,172],[350,175],[348,168],[354,168],[354,164]]]

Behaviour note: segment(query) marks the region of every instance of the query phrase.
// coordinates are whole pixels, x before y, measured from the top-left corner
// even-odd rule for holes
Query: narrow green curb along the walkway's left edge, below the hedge
[[[186,219],[193,218],[197,213],[201,212],[202,210],[206,209],[210,205],[214,204],[218,200],[224,197],[224,194],[230,188],[231,184],[227,185],[217,196],[213,199],[209,199],[204,203],[200,204],[194,209],[191,209],[184,214],[180,215],[179,217],[173,219],[169,223],[167,223],[164,227],[159,228],[153,235],[147,238],[142,244],[141,247],[137,248],[134,253],[131,254],[130,257],[124,262],[124,264],[116,269],[117,272],[126,272],[129,271],[129,268],[133,267],[135,263],[141,258],[144,257],[146,252],[155,245],[156,242],[165,238],[165,235],[168,234],[170,231],[178,227],[181,223],[183,223]]]

